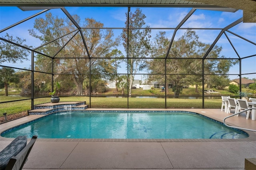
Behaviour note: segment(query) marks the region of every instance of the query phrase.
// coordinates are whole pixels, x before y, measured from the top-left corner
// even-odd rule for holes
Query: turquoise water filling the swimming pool
[[[242,131],[225,127],[190,112],[67,112],[42,117],[6,132],[15,138],[246,138]]]

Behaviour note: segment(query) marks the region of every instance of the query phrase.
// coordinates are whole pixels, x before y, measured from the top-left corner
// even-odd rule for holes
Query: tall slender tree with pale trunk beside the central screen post
[[[130,96],[132,94],[132,82],[134,80],[134,75],[137,71],[146,67],[143,59],[141,58],[146,57],[150,52],[151,30],[148,29],[149,26],[146,26],[147,29],[136,29],[142,28],[142,26],[146,24],[144,22],[146,16],[142,14],[142,10],[139,8],[137,8],[134,13],[126,13],[126,18],[125,26],[126,28],[129,28],[129,31],[124,29],[121,36],[124,48],[126,49],[126,55],[128,55],[128,85]]]

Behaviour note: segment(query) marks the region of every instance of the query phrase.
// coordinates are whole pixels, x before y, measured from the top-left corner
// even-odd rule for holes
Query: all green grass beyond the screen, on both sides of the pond
[[[242,91],[246,91],[243,89]],[[172,91],[169,89],[169,91]],[[199,92],[195,91],[195,88],[186,88],[182,90],[181,95],[202,95],[202,91],[198,89]],[[127,94],[127,89],[125,89],[125,94]],[[235,96],[237,94],[230,93],[227,89],[218,90],[220,93],[214,93],[214,95],[229,95]],[[118,94],[121,94],[122,91],[119,89]],[[19,92],[9,91],[10,96],[4,96],[4,91],[0,91],[0,116],[3,113],[14,114],[20,113],[22,111],[28,111],[31,108],[31,101],[26,97],[19,97]],[[116,95],[115,89],[109,89],[106,93],[102,95]],[[134,96],[154,96],[154,95],[165,95],[165,92],[160,92],[160,89],[154,90],[142,90],[142,89],[133,89],[132,95]],[[169,95],[173,95],[173,92],[170,92]],[[22,100],[28,99],[28,100]],[[22,101],[13,101],[13,100],[22,100]],[[124,97],[91,97],[91,103],[89,97],[84,96],[73,96],[73,97],[60,97],[60,101],[86,101],[86,104],[89,104],[92,108],[143,108],[143,109],[161,109],[161,108],[202,108],[202,99],[165,99],[160,98],[128,98]],[[128,106],[129,101],[129,106]],[[50,97],[34,99],[34,105],[48,103],[50,102]],[[218,109],[221,107],[221,99],[205,99],[204,108]]]

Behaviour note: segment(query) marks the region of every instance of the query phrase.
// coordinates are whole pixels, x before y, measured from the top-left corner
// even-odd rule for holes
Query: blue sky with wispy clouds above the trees
[[[93,8],[93,7],[66,7],[68,12],[78,14],[81,20],[84,18],[94,18],[96,21],[102,22],[104,27],[124,27],[126,21],[127,8],[125,7],[104,7],[104,8]],[[191,8],[140,8],[146,15],[146,26],[150,28],[176,28],[180,21],[188,14]],[[134,12],[136,8],[131,8],[131,12]],[[33,14],[40,11],[22,11],[17,7],[0,7],[0,29],[4,29],[20,20],[23,20]],[[60,9],[50,10],[52,14],[65,17],[64,13]],[[45,14],[41,14],[38,17],[44,17]],[[38,18],[36,17],[36,18]],[[242,17],[242,11],[238,10],[235,13],[231,12],[220,12],[210,10],[196,10],[192,16],[182,25],[181,28],[224,28],[232,22]],[[18,36],[26,39],[28,45],[36,47],[41,44],[40,41],[29,36],[28,29],[33,28],[34,19],[24,22],[10,30],[7,30],[10,35]],[[158,32],[166,31],[166,36],[172,38],[173,30],[167,29],[155,29],[152,30],[152,37]],[[179,38],[184,34],[186,30],[179,30],[176,33],[175,38]],[[256,42],[256,23],[240,23],[237,26],[230,29],[230,31],[243,36],[244,38]],[[1,33],[3,37],[6,32]],[[118,36],[122,30],[114,30],[115,36]],[[199,40],[204,43],[212,43],[220,30],[196,30],[196,34],[199,36]],[[256,54],[256,45],[248,43],[241,38],[234,36],[233,34],[227,33],[228,38],[232,41],[232,44],[238,51],[240,57]],[[226,36],[222,35],[220,40],[216,43],[223,47],[221,55],[231,58],[238,58],[234,49],[228,42]],[[122,49],[121,49],[122,51]],[[3,65],[14,66],[18,68],[29,67],[30,61],[24,61],[20,64],[4,63]],[[250,57],[242,60],[242,73],[254,73],[256,72],[256,57]],[[144,73],[144,72],[141,72]],[[235,65],[230,69],[230,74],[238,74],[239,65]],[[256,74],[244,75],[242,77],[256,78]],[[236,75],[230,76],[230,79],[238,78]]]

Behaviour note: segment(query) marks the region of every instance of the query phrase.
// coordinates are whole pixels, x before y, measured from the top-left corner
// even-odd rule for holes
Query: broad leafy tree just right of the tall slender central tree
[[[165,34],[165,32],[160,32],[154,39],[156,47],[152,47],[152,49],[158,51],[159,48],[160,53],[155,52],[153,55],[164,57],[164,53],[168,52],[167,49],[170,40],[165,37]],[[202,44],[198,43],[198,36],[192,30],[187,30],[182,37],[172,43],[168,58],[166,59],[166,93],[168,93],[168,83],[172,84],[172,91],[174,92],[175,97],[178,97],[184,86],[188,85],[191,81],[196,82],[196,79],[198,79],[197,74],[202,71],[202,69],[198,69],[198,63],[200,61],[185,58],[198,57],[202,50],[201,46]],[[149,65],[152,72],[163,73],[165,62],[160,59],[153,59],[150,61]],[[202,64],[200,64],[200,66],[202,66]],[[158,68],[158,71],[156,71],[155,68]],[[192,77],[192,75],[194,77]],[[161,76],[162,79],[164,79],[164,75]]]

